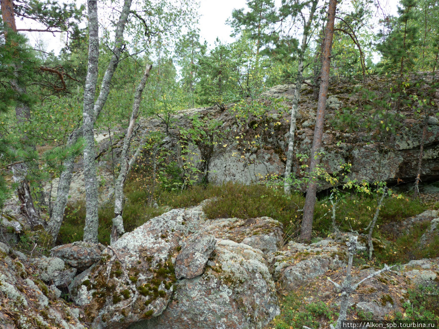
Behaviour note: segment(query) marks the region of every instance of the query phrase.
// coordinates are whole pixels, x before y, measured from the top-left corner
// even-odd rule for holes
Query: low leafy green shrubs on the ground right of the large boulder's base
[[[280,315],[270,325],[276,329],[319,328],[321,323],[334,320],[336,314],[327,305],[321,301],[306,303],[305,297],[290,291],[281,300]]]

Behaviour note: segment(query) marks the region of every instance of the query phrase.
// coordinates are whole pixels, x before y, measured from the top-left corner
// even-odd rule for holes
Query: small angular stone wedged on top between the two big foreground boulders
[[[177,279],[193,279],[201,275],[216,243],[212,235],[195,235],[183,242],[175,262]]]

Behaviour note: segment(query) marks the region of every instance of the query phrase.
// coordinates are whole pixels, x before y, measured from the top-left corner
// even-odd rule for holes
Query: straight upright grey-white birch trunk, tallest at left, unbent
[[[84,241],[98,243],[98,182],[95,164],[94,102],[98,84],[99,26],[98,1],[88,0],[88,68],[84,87],[83,136],[84,136],[84,183],[86,215]]]

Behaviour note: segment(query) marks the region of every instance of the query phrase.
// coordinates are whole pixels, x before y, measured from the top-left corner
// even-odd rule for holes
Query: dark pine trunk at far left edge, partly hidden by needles
[[[17,26],[15,24],[15,14],[14,14],[14,4],[12,0],[1,0],[1,16],[3,19],[4,37],[8,36],[8,29],[11,32],[17,33]],[[17,54],[18,56],[18,54]],[[14,68],[15,75],[20,73],[20,64],[17,64]],[[20,95],[27,94],[26,87],[20,85],[20,83],[13,79],[11,81],[12,89]],[[30,107],[29,104],[19,102],[15,108],[15,115],[17,117],[17,124],[20,125],[23,122],[30,120]],[[18,184],[17,186],[17,196],[20,200],[20,212],[26,217],[29,226],[33,230],[35,227],[42,225],[40,215],[35,208],[34,201],[32,199],[32,194],[29,186],[29,181],[26,178],[29,165],[26,163],[16,164],[12,167],[13,169],[13,179],[14,182]]]

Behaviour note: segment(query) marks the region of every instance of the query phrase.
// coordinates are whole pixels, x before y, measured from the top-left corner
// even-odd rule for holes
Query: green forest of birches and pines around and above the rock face
[[[128,170],[122,170],[124,166],[114,168],[113,163],[113,176],[119,175],[114,184],[120,186],[119,190],[115,188],[115,207],[119,207],[115,208],[115,218],[121,215],[123,201],[118,193],[123,195],[121,189],[133,164],[128,165],[132,157],[128,148],[138,116],[159,118],[166,125],[165,133],[169,133],[171,128],[179,129],[173,116],[180,110],[209,106],[225,110],[228,104],[244,100],[243,111],[263,112],[258,100],[261,92],[279,84],[295,84],[281,182],[289,195],[301,86],[311,87],[319,104],[309,176],[319,175],[315,173],[319,171],[319,140],[321,143],[330,77],[346,78],[353,84],[364,83],[368,77],[388,77],[388,92],[381,97],[388,109],[398,113],[402,107],[411,107],[425,120],[437,115],[432,96],[435,78],[428,82],[429,88],[409,94],[414,76],[418,85],[425,84],[425,75],[434,77],[437,69],[439,9],[433,0],[402,0],[395,16],[386,15],[379,1],[337,4],[282,0],[276,6],[273,0],[249,0],[246,9],[235,9],[227,21],[233,27],[235,41],[225,44],[217,39],[210,48],[200,39],[196,1],[126,0],[114,7],[99,5],[105,12],[100,15],[110,18],[110,24],[103,28],[99,27],[96,1],[80,7],[56,1],[1,2],[0,204],[3,207],[11,195],[16,195],[29,225],[42,225],[55,240],[67,205],[75,158],[83,154],[84,240],[98,241],[93,132],[111,134],[115,127],[128,127],[123,151]],[[22,32],[33,29],[16,27],[16,19],[22,18],[39,22],[43,32],[61,32],[66,42],[60,53],[47,53],[42,45],[31,45]],[[82,27],[84,22],[86,27]],[[133,97],[137,109],[134,106],[130,116]],[[381,123],[390,135],[396,134],[390,121]],[[205,125],[210,131],[206,132]],[[181,131],[180,135],[187,135],[182,140],[199,134],[197,138],[205,138],[204,143],[213,143],[213,131],[221,130],[221,122],[194,121],[192,130]],[[149,140],[159,139],[157,134],[150,135]],[[200,183],[191,177],[196,169],[190,162],[179,166],[174,168],[178,173],[171,173],[169,166],[154,173],[161,185],[158,190],[183,191]],[[170,177],[173,174],[178,179]],[[56,200],[51,200],[44,194],[43,185],[54,178],[60,178],[60,184]],[[301,233],[304,240],[311,238],[317,180],[310,179],[307,185]],[[123,232],[122,227],[117,233],[118,225],[120,222],[114,219],[114,239]]]

